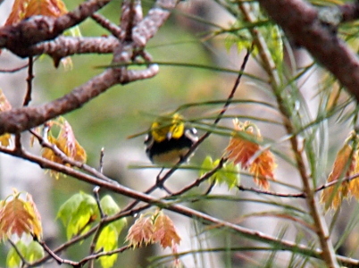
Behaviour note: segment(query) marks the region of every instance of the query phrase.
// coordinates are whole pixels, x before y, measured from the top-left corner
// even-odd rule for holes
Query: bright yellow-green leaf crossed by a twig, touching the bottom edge
[[[103,249],[104,252],[111,251],[117,247],[119,233],[113,224],[108,224],[101,230],[96,242],[96,251]],[[117,254],[104,255],[99,258],[102,267],[110,268],[117,260]]]

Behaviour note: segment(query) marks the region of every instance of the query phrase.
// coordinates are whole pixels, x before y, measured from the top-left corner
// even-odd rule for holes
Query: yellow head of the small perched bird
[[[151,126],[151,135],[156,142],[171,138],[180,138],[185,131],[182,117],[175,113],[171,118],[154,121]]]

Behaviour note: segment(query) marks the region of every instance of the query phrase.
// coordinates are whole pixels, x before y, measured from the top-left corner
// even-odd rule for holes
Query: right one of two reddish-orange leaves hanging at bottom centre
[[[159,242],[163,248],[179,245],[180,237],[171,218],[162,211],[154,215],[154,242]]]

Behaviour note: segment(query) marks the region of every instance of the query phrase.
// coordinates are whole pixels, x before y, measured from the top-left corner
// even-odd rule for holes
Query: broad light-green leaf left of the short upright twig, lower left
[[[89,228],[98,213],[94,197],[79,192],[67,200],[59,209],[57,218],[63,221],[67,238],[78,235]]]

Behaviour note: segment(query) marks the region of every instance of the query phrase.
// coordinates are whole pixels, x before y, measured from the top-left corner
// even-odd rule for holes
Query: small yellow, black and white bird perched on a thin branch
[[[197,140],[197,130],[179,113],[161,116],[152,123],[146,135],[146,155],[152,163],[161,165],[188,161],[184,156]]]

